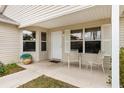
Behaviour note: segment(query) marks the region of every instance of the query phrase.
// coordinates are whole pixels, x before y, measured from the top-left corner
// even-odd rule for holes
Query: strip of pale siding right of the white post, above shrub
[[[120,18],[120,47],[124,47],[124,18]]]

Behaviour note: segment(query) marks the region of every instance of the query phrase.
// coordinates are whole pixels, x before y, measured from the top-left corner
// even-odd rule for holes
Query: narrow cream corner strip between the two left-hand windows
[[[36,31],[36,61],[40,61],[40,31]]]

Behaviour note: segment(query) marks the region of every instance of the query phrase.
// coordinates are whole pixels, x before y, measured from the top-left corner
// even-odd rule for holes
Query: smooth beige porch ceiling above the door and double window
[[[60,26],[72,25],[77,23],[84,23],[98,19],[105,19],[111,17],[110,5],[97,5],[81,11],[57,17],[48,21],[33,24],[33,26],[40,26],[44,28],[55,28]]]

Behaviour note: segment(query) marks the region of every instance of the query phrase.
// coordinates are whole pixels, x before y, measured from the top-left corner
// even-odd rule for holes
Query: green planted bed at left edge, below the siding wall
[[[24,69],[25,68],[20,67],[16,63],[3,65],[3,66],[0,67],[0,77],[6,76],[6,75],[9,75],[9,74],[13,74],[13,73],[22,71]]]

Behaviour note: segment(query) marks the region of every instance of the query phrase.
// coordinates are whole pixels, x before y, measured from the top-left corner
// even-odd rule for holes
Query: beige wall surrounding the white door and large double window
[[[74,29],[84,29],[88,27],[97,27],[101,26],[101,50],[104,52],[106,56],[111,56],[112,54],[112,43],[111,43],[111,20],[110,19],[101,19],[86,23],[80,23],[75,25],[69,25],[64,27],[57,27],[50,29],[49,31],[63,31],[63,58],[65,56],[65,53],[70,51],[70,30]],[[49,44],[49,52],[51,52],[51,44]],[[51,53],[49,54],[49,58],[51,56]]]

